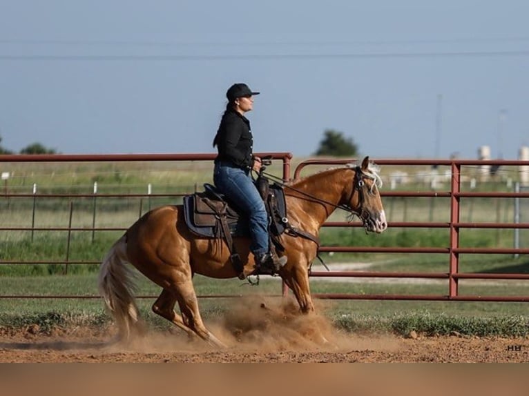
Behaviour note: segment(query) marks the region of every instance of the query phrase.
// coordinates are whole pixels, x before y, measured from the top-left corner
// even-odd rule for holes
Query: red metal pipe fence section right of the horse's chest
[[[311,165],[331,165],[346,164],[347,161],[322,161],[318,159],[304,161],[298,165],[294,172],[294,177],[298,177],[302,169]],[[450,220],[447,222],[388,222],[388,228],[448,228],[450,237],[447,246],[444,248],[430,247],[361,247],[361,246],[342,246],[329,247],[322,246],[321,252],[356,252],[356,253],[422,253],[425,255],[432,253],[443,253],[448,256],[448,270],[445,273],[410,273],[410,272],[371,272],[371,271],[345,271],[345,272],[322,272],[314,271],[312,277],[370,277],[370,278],[421,278],[421,279],[446,279],[448,283],[448,293],[446,295],[351,295],[351,294],[325,294],[316,295],[320,298],[329,299],[408,299],[408,300],[453,300],[453,301],[529,301],[528,295],[517,296],[481,296],[481,295],[459,295],[459,279],[519,279],[527,282],[529,286],[528,273],[461,273],[459,271],[459,258],[462,254],[512,254],[527,255],[529,248],[461,248],[459,247],[459,235],[465,228],[512,228],[528,229],[529,221],[526,222],[462,222],[460,199],[468,198],[529,198],[529,192],[462,192],[461,191],[461,167],[470,166],[480,169],[485,166],[488,170],[490,166],[527,166],[528,161],[471,161],[471,160],[396,160],[396,159],[377,159],[376,164],[381,166],[449,166],[450,167],[450,190],[448,191],[399,191],[387,192],[383,190],[383,197],[447,197],[450,199]],[[482,175],[489,177],[488,174]],[[345,224],[341,222],[327,222],[324,227],[340,227]],[[529,264],[528,264],[529,265]],[[528,288],[529,290],[529,288]]]

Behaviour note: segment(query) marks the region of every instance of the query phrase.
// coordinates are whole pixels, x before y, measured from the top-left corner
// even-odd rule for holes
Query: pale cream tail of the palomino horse
[[[99,267],[97,284],[99,294],[113,315],[119,329],[119,338],[128,340],[140,329],[139,313],[134,301],[134,273],[127,266],[126,236],[119,238],[110,248]]]

